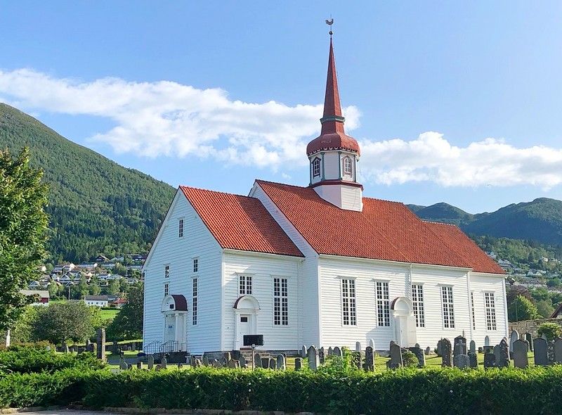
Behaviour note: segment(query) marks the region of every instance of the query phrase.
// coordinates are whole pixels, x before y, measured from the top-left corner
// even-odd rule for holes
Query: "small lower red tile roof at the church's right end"
[[[471,238],[466,236],[457,226],[437,222],[425,222],[431,230],[439,236],[441,241],[457,254],[469,262],[475,272],[490,272],[492,274],[505,274],[504,269],[497,262],[488,257]]]

